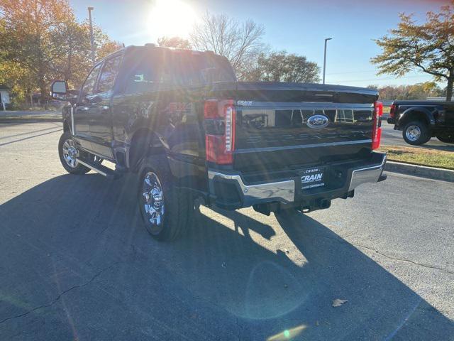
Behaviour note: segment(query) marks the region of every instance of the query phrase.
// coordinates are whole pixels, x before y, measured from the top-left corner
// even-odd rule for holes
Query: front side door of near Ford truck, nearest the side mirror
[[[74,108],[74,129],[75,139],[79,146],[92,151],[92,137],[90,136],[90,119],[94,104],[93,99],[96,97],[95,86],[98,79],[102,63],[96,64],[85,79],[79,99]]]

